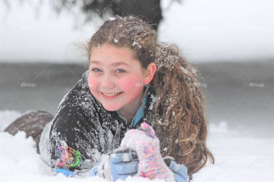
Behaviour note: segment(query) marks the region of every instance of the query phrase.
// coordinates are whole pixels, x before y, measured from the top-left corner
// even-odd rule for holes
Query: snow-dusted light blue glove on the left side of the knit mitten
[[[100,176],[110,181],[125,180],[136,176],[138,172],[138,155],[134,150],[117,150],[106,156],[98,166],[91,169],[89,176]]]

